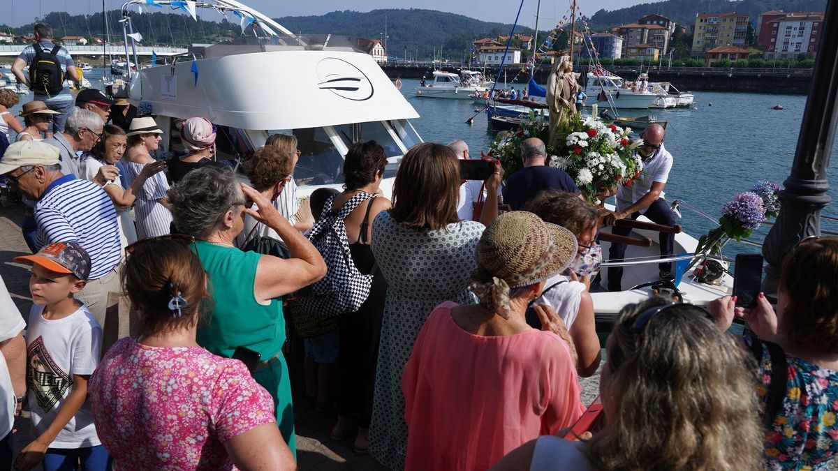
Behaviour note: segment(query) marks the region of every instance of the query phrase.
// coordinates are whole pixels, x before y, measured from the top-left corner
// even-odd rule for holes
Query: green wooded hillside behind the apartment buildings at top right
[[[784,12],[822,12],[826,0],[665,0],[657,3],[641,3],[629,8],[594,13],[588,23],[592,28],[608,28],[620,24],[635,23],[649,13],[660,13],[685,26],[696,23],[696,13],[747,13],[755,23],[759,13],[770,10]],[[590,12],[583,12],[590,14]]]

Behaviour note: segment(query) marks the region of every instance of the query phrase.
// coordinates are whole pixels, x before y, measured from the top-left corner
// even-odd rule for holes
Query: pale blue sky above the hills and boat
[[[605,8],[614,10],[629,7],[638,3],[648,3],[654,0],[580,0],[580,11],[586,16],[592,16],[597,10]],[[105,0],[106,8],[118,9],[122,0]],[[245,0],[241,1],[271,18],[284,16],[320,15],[335,10],[354,9],[370,11],[378,8],[425,8],[442,12],[459,13],[471,18],[498,23],[512,23],[515,20],[519,2],[515,0],[480,0],[479,2],[457,2],[452,0],[366,0],[363,3],[349,3],[345,0]],[[11,3],[11,8],[8,4]],[[535,26],[535,9],[537,0],[524,0],[519,22]],[[349,8],[348,5],[355,5]],[[358,5],[363,5],[360,7]],[[570,0],[541,0],[541,25],[555,24],[570,6]],[[101,0],[0,0],[3,18],[0,23],[19,26],[32,23],[35,17],[53,11],[65,11],[70,14],[91,14],[101,11]],[[206,19],[220,19],[218,15],[201,15]],[[543,29],[548,29],[544,27]]]

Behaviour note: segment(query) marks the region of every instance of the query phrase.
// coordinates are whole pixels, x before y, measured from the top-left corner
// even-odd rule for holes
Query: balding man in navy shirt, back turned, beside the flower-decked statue
[[[546,189],[581,193],[571,176],[564,170],[546,165],[546,149],[544,142],[538,137],[530,137],[521,142],[521,161],[524,168],[506,180],[504,189],[504,202],[509,204],[512,210],[523,210],[527,201]]]

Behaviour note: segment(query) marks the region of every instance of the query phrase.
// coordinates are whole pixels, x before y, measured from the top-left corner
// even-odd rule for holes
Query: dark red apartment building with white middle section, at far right
[[[823,35],[824,12],[759,15],[757,44],[766,59],[784,59],[798,54],[817,54]]]

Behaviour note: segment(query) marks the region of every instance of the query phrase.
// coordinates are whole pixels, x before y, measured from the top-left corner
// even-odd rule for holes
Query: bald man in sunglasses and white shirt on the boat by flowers
[[[674,225],[675,213],[664,199],[664,187],[666,179],[669,178],[672,168],[672,154],[664,148],[664,128],[660,124],[650,124],[643,134],[643,145],[638,148],[640,158],[643,159],[644,176],[635,179],[628,187],[619,187],[617,190],[617,210],[606,215],[603,223],[613,225],[621,219],[637,219],[644,215],[649,220],[662,225]],[[613,227],[613,234],[629,235],[629,227]],[[671,256],[672,247],[675,244],[675,234],[669,232],[660,233],[660,256]],[[608,249],[608,258],[612,261],[622,259],[625,256],[626,245],[612,243]],[[670,272],[671,263],[658,264],[660,277],[672,279]],[[608,268],[608,291],[621,291],[623,279],[623,267]]]

